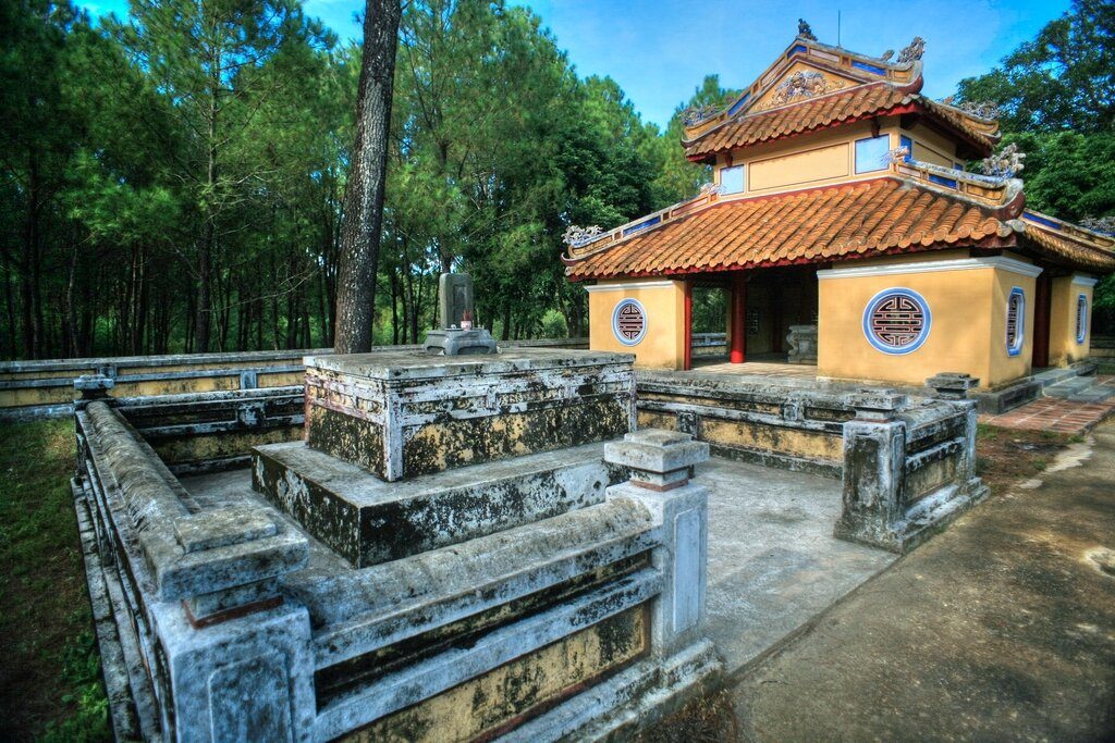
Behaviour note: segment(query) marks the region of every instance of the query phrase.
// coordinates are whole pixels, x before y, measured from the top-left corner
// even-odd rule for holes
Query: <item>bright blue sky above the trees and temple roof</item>
[[[665,126],[705,75],[729,88],[750,85],[797,32],[797,19],[825,43],[867,55],[925,39],[923,92],[943,98],[957,82],[993,67],[1068,9],[1069,0],[513,0],[532,8],[581,76],[610,75],[646,120]],[[126,0],[79,2],[123,14]],[[342,38],[359,35],[361,0],[306,0]]]

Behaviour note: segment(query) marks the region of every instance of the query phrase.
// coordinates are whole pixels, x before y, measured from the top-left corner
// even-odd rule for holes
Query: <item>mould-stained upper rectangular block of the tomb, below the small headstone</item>
[[[516,349],[307,356],[310,448],[396,481],[621,437],[630,354]]]

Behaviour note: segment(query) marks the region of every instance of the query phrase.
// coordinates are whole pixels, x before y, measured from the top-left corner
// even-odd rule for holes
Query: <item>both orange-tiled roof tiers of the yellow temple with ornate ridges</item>
[[[889,115],[915,115],[988,156],[998,124],[919,94],[921,40],[896,62],[798,36],[758,80],[718,110],[688,113],[682,146],[696,162],[763,141]],[[1009,248],[1072,270],[1115,271],[1115,238],[1025,209],[1021,180],[904,157],[871,179],[775,194],[696,198],[609,232],[571,228],[573,281],[730,271],[948,247]]]

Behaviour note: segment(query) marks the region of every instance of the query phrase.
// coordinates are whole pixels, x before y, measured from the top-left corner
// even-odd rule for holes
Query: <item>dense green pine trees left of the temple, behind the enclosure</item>
[[[130,0],[97,26],[0,0],[0,355],[332,344],[358,47],[298,0]],[[681,111],[731,96],[706,78],[660,133],[529,9],[405,3],[376,342],[419,342],[449,270],[505,338],[554,312],[584,335],[565,228],[694,196]]]

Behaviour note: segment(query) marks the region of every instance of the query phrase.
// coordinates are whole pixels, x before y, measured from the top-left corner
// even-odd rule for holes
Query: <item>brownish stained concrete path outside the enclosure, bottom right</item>
[[[740,736],[1111,740],[1112,550],[1115,421],[747,669]]]

